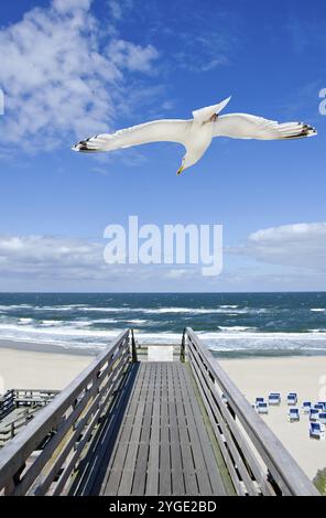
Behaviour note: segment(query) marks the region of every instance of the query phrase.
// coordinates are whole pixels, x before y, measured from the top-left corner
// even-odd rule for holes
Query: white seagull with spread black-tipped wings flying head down
[[[72,149],[80,152],[113,151],[150,142],[177,142],[186,153],[176,174],[191,168],[202,159],[215,137],[231,139],[285,140],[317,134],[315,128],[304,122],[276,122],[248,114],[220,111],[231,97],[217,105],[194,110],[193,119],[153,120],[143,125],[121,129],[116,133],[102,133],[80,140]]]

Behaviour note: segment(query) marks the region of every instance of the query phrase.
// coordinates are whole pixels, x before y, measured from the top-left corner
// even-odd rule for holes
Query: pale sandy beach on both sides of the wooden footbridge
[[[9,388],[63,389],[94,356],[65,352],[44,353],[44,345],[0,341],[0,392]],[[326,441],[308,436],[308,418],[287,421],[285,396],[289,391],[303,399],[326,400],[326,357],[286,357],[256,359],[224,359],[219,361],[250,402],[280,391],[280,407],[270,408],[263,419],[283,442],[305,473],[313,478],[326,467]],[[2,386],[1,386],[2,385]]]

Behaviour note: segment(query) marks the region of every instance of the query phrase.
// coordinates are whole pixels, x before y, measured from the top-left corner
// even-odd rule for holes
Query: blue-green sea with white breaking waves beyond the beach
[[[326,354],[326,293],[0,293],[0,341],[97,354],[122,330],[177,344],[189,326],[217,357]]]

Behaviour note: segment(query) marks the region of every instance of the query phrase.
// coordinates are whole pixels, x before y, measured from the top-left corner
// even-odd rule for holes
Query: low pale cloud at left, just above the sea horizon
[[[48,279],[52,282],[122,281],[144,282],[156,279],[180,279],[199,274],[192,269],[142,265],[108,265],[104,258],[106,242],[90,239],[73,239],[59,236],[6,236],[0,235],[1,283],[11,279]]]

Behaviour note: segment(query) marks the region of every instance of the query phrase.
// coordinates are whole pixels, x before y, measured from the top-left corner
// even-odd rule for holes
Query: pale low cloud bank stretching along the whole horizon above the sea
[[[119,289],[133,285],[142,289],[148,282],[159,287],[172,282],[186,288],[192,280],[199,289],[237,290],[247,287],[251,280],[260,279],[261,285],[275,289],[316,289],[325,279],[326,270],[326,223],[301,223],[257,230],[248,236],[243,246],[226,248],[229,256],[247,257],[254,260],[248,268],[236,267],[216,279],[203,278],[200,268],[185,268],[171,265],[107,265],[104,259],[106,241],[73,239],[59,236],[4,236],[0,235],[0,280],[21,279],[48,280],[58,282],[57,289],[67,280],[80,281],[83,290],[93,289],[93,282],[117,283]],[[230,257],[229,257],[230,259]],[[226,265],[229,260],[225,261]],[[252,277],[253,276],[253,277]],[[59,282],[62,284],[59,284]],[[265,284],[264,284],[265,282]],[[155,284],[156,285],[156,284]],[[161,288],[162,289],[162,288]],[[244,288],[246,289],[246,288]]]

